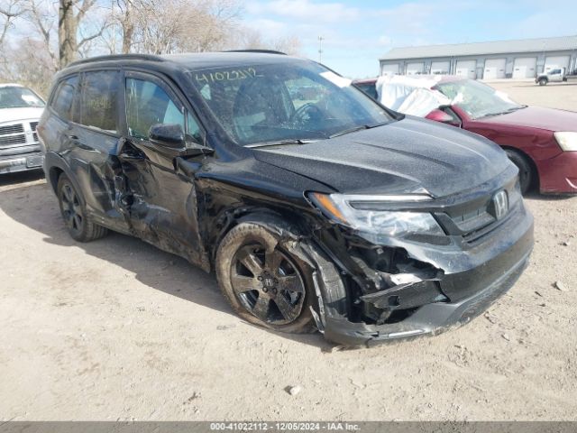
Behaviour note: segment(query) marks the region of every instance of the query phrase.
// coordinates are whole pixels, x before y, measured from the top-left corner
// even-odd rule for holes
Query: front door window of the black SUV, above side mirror
[[[182,108],[170,99],[163,88],[137,78],[126,78],[126,122],[129,134],[141,139],[148,137],[153,124],[179,124],[186,131]]]

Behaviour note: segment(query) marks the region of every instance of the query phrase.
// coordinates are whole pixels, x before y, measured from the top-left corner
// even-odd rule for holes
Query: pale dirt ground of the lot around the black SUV
[[[577,86],[495,87],[577,111]],[[527,206],[532,263],[483,316],[331,352],[243,323],[213,276],[139,240],[75,243],[44,180],[2,177],[0,420],[575,420],[577,198]]]

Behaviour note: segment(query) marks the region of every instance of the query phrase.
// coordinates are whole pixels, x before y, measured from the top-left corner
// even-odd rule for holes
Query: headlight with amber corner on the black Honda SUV
[[[371,210],[370,208],[371,203],[431,199],[426,195],[369,197],[313,192],[308,197],[326,217],[357,230],[389,236],[402,236],[409,233],[444,235],[443,229],[430,213]],[[355,205],[362,208],[355,208]]]

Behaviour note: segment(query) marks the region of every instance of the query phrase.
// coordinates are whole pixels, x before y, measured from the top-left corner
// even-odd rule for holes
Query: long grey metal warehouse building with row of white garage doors
[[[577,36],[394,48],[380,59],[380,75],[535,78],[554,67],[577,69]]]

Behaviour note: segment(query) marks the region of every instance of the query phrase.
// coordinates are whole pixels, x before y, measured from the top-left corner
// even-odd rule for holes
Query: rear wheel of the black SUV
[[[60,205],[60,214],[68,228],[70,236],[78,242],[90,242],[104,237],[108,230],[98,226],[87,217],[84,199],[69,180],[62,173],[56,187],[56,194]]]

